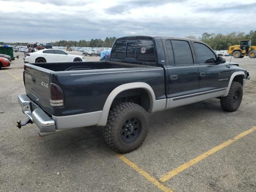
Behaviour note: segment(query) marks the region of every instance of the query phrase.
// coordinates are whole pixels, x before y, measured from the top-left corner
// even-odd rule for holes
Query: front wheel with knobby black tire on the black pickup
[[[223,110],[233,112],[238,109],[243,98],[243,88],[239,82],[232,82],[228,96],[220,98],[220,106]]]

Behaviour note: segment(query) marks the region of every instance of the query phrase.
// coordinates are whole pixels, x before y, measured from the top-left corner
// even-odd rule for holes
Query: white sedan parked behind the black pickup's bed
[[[34,53],[26,53],[24,63],[56,63],[56,62],[82,62],[83,56],[68,54],[60,49],[43,49]]]

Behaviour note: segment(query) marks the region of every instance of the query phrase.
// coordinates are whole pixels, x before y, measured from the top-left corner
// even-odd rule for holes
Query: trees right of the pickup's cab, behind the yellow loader
[[[227,50],[231,45],[240,44],[240,40],[252,40],[252,45],[256,45],[256,30],[251,30],[249,34],[244,32],[232,32],[229,34],[203,33],[202,36],[186,36],[187,38],[198,39],[208,44],[214,50]]]

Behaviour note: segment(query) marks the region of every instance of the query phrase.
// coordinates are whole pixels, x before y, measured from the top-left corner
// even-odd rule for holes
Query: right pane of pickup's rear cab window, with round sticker
[[[156,62],[154,43],[152,40],[138,40],[136,61]]]

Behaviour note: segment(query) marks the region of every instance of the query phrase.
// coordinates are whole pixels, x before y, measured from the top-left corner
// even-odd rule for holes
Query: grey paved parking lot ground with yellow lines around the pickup
[[[256,192],[256,59],[232,58],[251,76],[236,112],[211,99],[150,114],[142,146],[119,155],[102,127],[43,138],[34,124],[16,128],[26,118],[17,101],[25,93],[23,54],[16,54],[0,71],[0,192]]]

